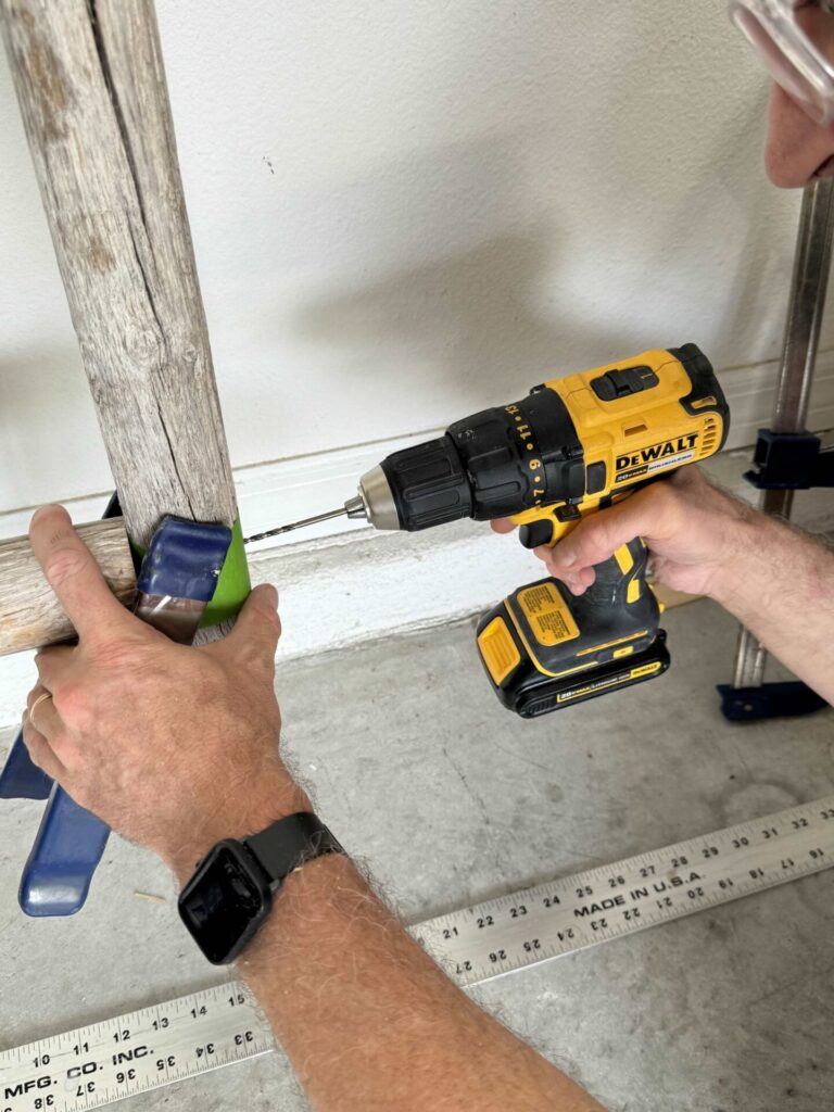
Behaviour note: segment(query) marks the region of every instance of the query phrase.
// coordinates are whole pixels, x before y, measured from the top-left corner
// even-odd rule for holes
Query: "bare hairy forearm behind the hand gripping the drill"
[[[834,702],[834,553],[764,514],[737,524],[711,592],[783,664]]]

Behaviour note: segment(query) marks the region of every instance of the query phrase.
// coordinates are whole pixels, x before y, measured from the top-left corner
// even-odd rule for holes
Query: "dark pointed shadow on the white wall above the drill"
[[[443,384],[445,394],[456,388],[461,400],[506,401],[508,390],[522,395],[543,375],[580,369],[558,366],[566,349],[587,344],[625,351],[631,342],[620,331],[609,332],[604,319],[586,327],[577,318],[559,321],[537,311],[553,272],[552,236],[552,229],[535,225],[505,230],[457,254],[312,301],[294,324],[311,340],[346,350],[387,347],[391,363],[383,369],[375,360],[374,383],[367,364],[346,364],[345,374],[357,374],[363,390],[403,397],[408,384],[403,365],[397,366],[399,351],[420,370],[423,390]],[[492,397],[485,396],[485,384]]]

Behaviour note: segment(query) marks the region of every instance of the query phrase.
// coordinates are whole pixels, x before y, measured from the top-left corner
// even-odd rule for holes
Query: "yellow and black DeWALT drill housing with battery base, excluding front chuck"
[[[524,404],[506,407],[532,475],[533,505],[512,515],[527,547],[555,545],[584,515],[707,458],[726,439],[726,401],[712,367],[692,345],[644,351],[553,379],[544,389],[564,404],[579,448],[572,449],[573,463],[559,465],[565,489],[554,497],[557,488],[547,479],[554,445],[546,423]],[[562,425],[558,435],[564,438]],[[548,577],[486,614],[478,651],[502,702],[536,717],[665,672],[662,607],[645,584],[646,562],[636,537],[595,568],[596,580],[585,594],[574,596]]]

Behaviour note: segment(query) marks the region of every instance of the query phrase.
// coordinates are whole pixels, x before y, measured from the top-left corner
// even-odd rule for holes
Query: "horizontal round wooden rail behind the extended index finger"
[[[110,589],[126,606],[136,576],[121,518],[78,526]],[[75,637],[67,615],[43,578],[29,537],[0,542],[0,656]]]

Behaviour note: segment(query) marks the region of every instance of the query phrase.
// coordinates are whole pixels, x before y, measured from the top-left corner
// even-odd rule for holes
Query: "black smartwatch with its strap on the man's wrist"
[[[252,940],[285,877],[308,861],[344,853],[309,812],[279,818],[260,834],[218,842],[179,897],[179,914],[214,965],[234,962]]]

